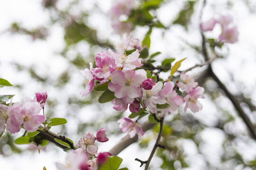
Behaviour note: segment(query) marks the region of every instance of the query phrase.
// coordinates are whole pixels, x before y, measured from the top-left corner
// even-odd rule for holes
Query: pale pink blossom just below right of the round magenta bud
[[[150,111],[153,113],[157,112],[156,104],[165,104],[166,100],[162,99],[161,96],[159,95],[160,90],[163,87],[162,82],[157,82],[156,85],[153,86],[151,90],[145,90],[142,89],[143,91],[143,102],[144,105],[148,108],[150,108]]]

